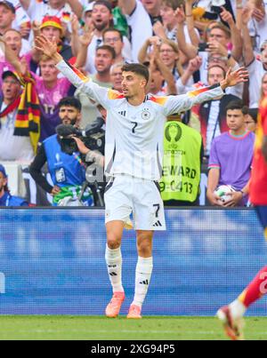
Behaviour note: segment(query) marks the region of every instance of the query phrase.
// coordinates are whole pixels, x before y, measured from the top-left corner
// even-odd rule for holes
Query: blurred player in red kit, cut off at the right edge
[[[250,201],[255,206],[267,240],[267,97],[261,103],[259,128],[255,140],[255,155],[250,181]],[[247,308],[267,293],[267,266],[229,306],[217,312],[226,334],[233,340],[243,339],[243,315]]]

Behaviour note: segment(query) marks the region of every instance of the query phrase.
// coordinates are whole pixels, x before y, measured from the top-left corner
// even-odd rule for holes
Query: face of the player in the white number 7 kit
[[[122,91],[126,98],[137,96],[146,86],[146,80],[134,72],[123,72]]]

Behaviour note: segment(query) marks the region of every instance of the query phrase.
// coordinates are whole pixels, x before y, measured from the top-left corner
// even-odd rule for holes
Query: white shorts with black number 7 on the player
[[[135,230],[166,230],[164,205],[158,182],[126,175],[109,181],[105,199],[105,223],[129,221],[133,212]]]

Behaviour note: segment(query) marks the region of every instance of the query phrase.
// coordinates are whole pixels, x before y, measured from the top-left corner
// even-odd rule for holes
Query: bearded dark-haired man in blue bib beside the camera
[[[80,101],[66,97],[61,99],[59,108],[63,128],[66,125],[72,130],[78,129],[81,121]],[[68,137],[69,139],[65,137],[62,139],[60,135],[54,134],[45,139],[34,162],[30,165],[30,175],[40,187],[44,188],[44,191],[53,195],[53,206],[93,206],[93,193],[90,187],[85,189],[81,198],[79,197],[85,182],[86,166],[77,146],[71,146],[71,143],[75,144],[74,139],[71,138],[72,135]],[[70,150],[66,150],[67,147]],[[53,186],[48,183],[41,172],[46,162]]]

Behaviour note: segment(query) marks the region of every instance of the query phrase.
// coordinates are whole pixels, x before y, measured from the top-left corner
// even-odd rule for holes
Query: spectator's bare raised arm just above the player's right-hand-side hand
[[[223,7],[223,12],[221,12],[221,18],[223,21],[227,22],[229,24],[229,27],[231,29],[231,42],[233,45],[231,55],[232,57],[239,61],[242,56],[242,36],[240,33],[239,28],[237,28],[235,21],[233,20],[233,17],[231,15],[231,12],[228,12]]]

